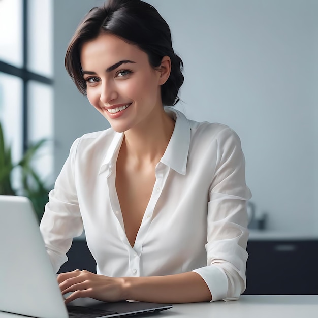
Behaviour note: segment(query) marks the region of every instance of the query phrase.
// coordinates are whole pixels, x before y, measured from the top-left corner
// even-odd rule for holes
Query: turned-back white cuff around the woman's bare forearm
[[[208,285],[212,295],[212,301],[221,300],[227,297],[228,277],[215,265],[205,266],[193,270],[198,273]]]

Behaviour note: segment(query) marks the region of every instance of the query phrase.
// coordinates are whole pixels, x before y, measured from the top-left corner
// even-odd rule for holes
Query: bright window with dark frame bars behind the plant
[[[14,162],[29,143],[53,138],[52,6],[0,0],[0,122]],[[36,167],[52,178],[53,142],[44,150]]]

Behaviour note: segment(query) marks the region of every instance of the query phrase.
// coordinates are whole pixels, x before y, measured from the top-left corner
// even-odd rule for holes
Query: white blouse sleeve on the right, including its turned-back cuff
[[[216,136],[217,161],[209,189],[207,266],[194,270],[208,285],[212,301],[235,300],[246,288],[248,240],[245,159],[230,128]]]

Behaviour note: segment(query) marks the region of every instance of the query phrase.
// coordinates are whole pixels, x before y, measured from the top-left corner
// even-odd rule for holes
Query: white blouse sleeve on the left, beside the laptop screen
[[[56,179],[54,190],[49,193],[49,202],[40,224],[45,248],[55,272],[68,260],[66,253],[72,245],[73,237],[83,232],[74,177],[78,143],[79,139],[73,143],[69,157]]]

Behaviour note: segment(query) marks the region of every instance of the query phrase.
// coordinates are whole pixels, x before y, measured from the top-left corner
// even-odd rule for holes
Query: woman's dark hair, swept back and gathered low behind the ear
[[[175,105],[183,83],[183,62],[172,48],[171,32],[167,22],[148,3],[141,0],[109,0],[101,7],[92,8],[79,24],[67,49],[65,67],[79,91],[86,95],[80,52],[85,42],[109,33],[138,46],[147,53],[153,68],[160,66],[162,58],[171,59],[171,73],[161,86],[163,105]]]

